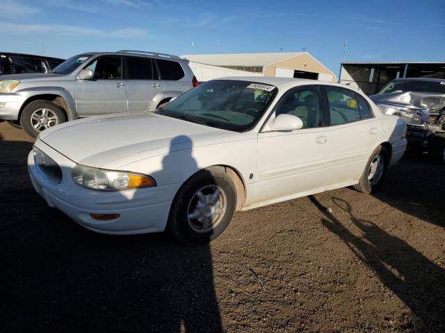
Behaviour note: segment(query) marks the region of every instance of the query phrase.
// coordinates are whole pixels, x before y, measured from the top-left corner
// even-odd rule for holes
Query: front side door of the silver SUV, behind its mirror
[[[127,112],[127,86],[122,79],[122,56],[100,56],[84,69],[92,80],[76,80],[76,110],[79,117]]]

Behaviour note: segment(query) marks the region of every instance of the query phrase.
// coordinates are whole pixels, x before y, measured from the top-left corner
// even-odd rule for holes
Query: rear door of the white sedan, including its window
[[[382,126],[369,103],[357,92],[325,86],[329,104],[327,133],[332,154],[332,184],[358,180],[378,144]]]

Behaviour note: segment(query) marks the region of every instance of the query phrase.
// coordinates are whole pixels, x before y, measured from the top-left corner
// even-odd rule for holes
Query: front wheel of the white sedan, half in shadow
[[[212,201],[216,189],[219,195]],[[204,169],[186,180],[177,191],[170,207],[167,230],[183,244],[207,244],[224,232],[235,208],[236,187],[224,168]]]

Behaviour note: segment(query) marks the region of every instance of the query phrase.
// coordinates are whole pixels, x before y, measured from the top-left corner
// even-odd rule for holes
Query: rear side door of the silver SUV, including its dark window
[[[163,84],[152,58],[126,56],[127,99],[129,112],[155,110],[161,98]]]

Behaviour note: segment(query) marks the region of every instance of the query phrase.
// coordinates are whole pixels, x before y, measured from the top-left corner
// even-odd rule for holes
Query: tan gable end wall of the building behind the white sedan
[[[306,66],[305,66],[306,64]],[[314,57],[309,53],[302,53],[292,58],[274,62],[273,64],[264,67],[264,76],[275,76],[275,67],[283,67],[290,69],[297,69],[300,71],[312,71],[314,73],[325,73],[335,76],[332,71],[321,65]]]

